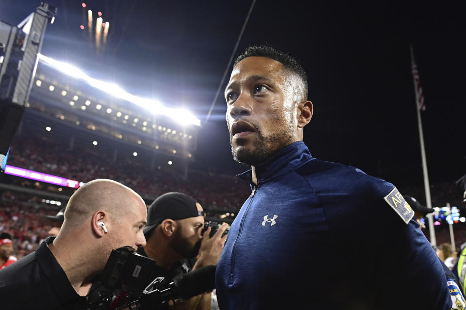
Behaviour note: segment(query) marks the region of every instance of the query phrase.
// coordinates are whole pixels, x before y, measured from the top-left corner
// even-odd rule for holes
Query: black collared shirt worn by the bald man
[[[0,270],[1,309],[87,309],[86,298],[76,293],[49,249],[53,239]]]

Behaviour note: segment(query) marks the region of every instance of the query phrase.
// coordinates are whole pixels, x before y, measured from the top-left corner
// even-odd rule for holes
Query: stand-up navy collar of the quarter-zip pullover
[[[265,162],[257,165],[257,184],[266,183],[283,174],[293,171],[306,162],[314,159],[303,141],[291,143]],[[237,177],[252,183],[252,170],[238,174]]]

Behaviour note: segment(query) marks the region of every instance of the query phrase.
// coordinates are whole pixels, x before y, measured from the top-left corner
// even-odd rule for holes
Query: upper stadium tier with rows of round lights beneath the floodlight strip
[[[39,66],[28,108],[73,128],[110,136],[117,143],[124,141],[188,162],[194,160],[198,125],[179,124],[166,114],[148,113],[54,68]]]

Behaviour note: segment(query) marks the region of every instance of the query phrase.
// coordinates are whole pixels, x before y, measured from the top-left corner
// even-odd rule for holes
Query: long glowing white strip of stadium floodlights
[[[91,78],[90,76],[86,75],[81,69],[69,63],[59,62],[42,54],[38,54],[37,56],[40,62],[70,77],[83,80],[88,85],[100,89],[105,93],[109,93],[114,97],[131,102],[143,109],[150,111],[154,115],[163,114],[180,124],[194,124],[200,126],[200,120],[186,109],[167,108],[158,100],[135,96],[131,93],[127,93],[125,90],[123,90],[121,87],[115,84]]]

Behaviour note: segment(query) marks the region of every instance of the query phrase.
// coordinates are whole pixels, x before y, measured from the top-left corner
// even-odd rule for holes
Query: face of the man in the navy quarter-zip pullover
[[[293,85],[298,77],[266,57],[247,57],[233,68],[225,90],[233,158],[255,166],[298,141]]]

